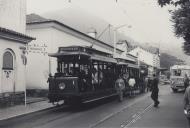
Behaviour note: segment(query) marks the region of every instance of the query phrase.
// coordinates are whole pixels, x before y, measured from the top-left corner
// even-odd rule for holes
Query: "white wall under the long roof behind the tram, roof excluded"
[[[68,34],[54,27],[30,28],[26,32],[28,35],[36,37],[36,40],[32,41],[28,47],[27,89],[48,89],[48,74],[50,72],[54,74],[57,67],[57,60],[48,57],[48,53],[56,53],[58,47],[61,46],[90,46],[92,44],[80,37],[80,35]],[[110,52],[106,47],[103,48],[98,45],[94,45],[93,47]],[[42,49],[39,50],[40,48]]]

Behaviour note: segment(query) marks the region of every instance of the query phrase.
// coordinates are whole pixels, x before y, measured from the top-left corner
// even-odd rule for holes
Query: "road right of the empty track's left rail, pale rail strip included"
[[[160,106],[153,107],[150,97],[134,104],[117,116],[98,125],[98,127],[121,128],[186,128],[183,114],[183,92],[173,93],[169,85],[160,86]],[[136,113],[130,116],[131,112]]]

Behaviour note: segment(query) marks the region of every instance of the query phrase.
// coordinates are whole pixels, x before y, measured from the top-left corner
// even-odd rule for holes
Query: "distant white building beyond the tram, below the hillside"
[[[148,66],[148,75],[156,73],[160,69],[159,49],[153,47],[136,47],[129,52],[138,58],[138,63],[144,63]]]

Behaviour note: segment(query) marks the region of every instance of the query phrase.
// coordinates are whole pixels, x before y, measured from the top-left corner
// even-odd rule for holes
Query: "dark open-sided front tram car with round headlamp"
[[[65,104],[88,103],[117,95],[115,81],[119,74],[138,71],[112,54],[87,46],[59,47],[57,72],[49,77],[49,101]],[[133,71],[135,70],[135,71]]]

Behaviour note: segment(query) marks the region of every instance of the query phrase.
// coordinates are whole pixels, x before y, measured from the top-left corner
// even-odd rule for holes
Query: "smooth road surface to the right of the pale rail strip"
[[[168,91],[169,90],[169,91]],[[183,93],[172,93],[168,88],[161,88],[160,107],[150,108],[129,128],[187,128],[183,114]]]

